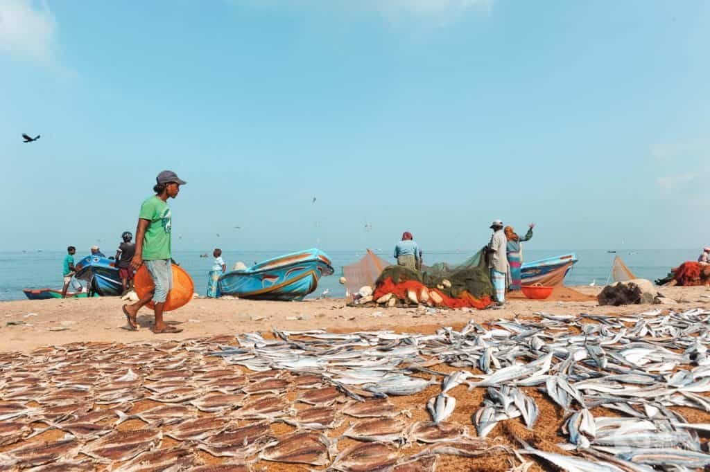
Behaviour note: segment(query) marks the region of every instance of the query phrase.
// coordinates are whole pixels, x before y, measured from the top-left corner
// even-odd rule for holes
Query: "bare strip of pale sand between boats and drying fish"
[[[599,306],[594,300],[601,287],[577,286],[574,291],[588,296],[568,301],[509,298],[501,310],[442,310],[425,307],[381,308],[346,306],[342,298],[302,302],[196,298],[166,313],[168,323],[182,328],[175,335],[155,335],[150,327],[153,312],[138,313],[138,331],[125,330],[126,318],[118,297],[67,298],[52,300],[11,300],[0,302],[1,352],[30,352],[46,345],[72,342],[153,342],[235,335],[239,332],[322,329],[332,332],[393,330],[428,333],[442,326],[460,327],[469,320],[486,322],[498,318],[527,316],[537,312],[552,314],[633,314],[647,310],[687,310],[710,304],[706,287],[662,287],[661,293],[676,300],[672,305]],[[572,293],[572,292],[570,292]],[[704,297],[705,296],[705,297]]]

